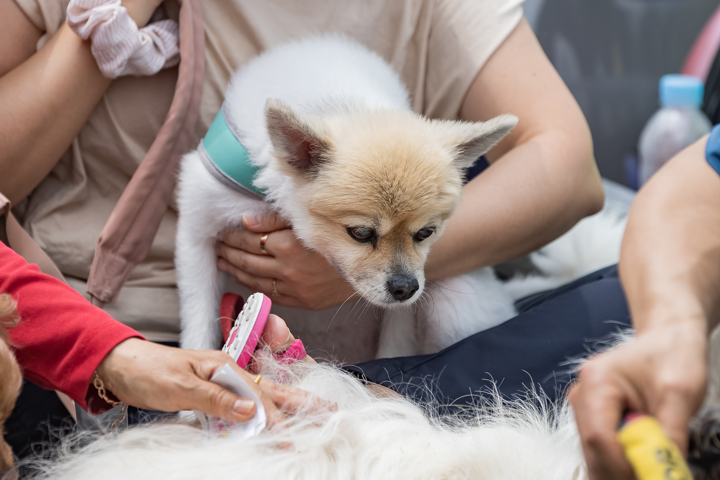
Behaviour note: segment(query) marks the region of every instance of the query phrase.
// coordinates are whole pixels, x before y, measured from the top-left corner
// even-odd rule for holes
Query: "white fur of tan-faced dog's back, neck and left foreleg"
[[[292,78],[289,78],[289,74]],[[310,248],[305,227],[307,210],[297,201],[294,184],[271,164],[271,142],[264,107],[282,99],[298,114],[361,102],[366,108],[410,110],[408,93],[390,65],[344,37],[310,37],[260,55],[233,76],[225,99],[243,137],[251,161],[260,166],[255,184],[266,188],[267,200],[290,219],[296,235]],[[215,268],[215,242],[229,227],[242,225],[244,214],[258,214],[269,203],[223,186],[200,163],[197,152],[182,160],[179,176],[179,220],[176,268],[181,300],[183,348],[218,348],[217,326],[225,277]]]

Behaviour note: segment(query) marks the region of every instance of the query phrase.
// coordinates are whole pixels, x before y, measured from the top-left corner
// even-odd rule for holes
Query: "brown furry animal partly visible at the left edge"
[[[0,294],[0,433],[4,435],[3,425],[12,413],[15,401],[22,387],[22,373],[9,347],[9,337],[5,327],[17,325],[15,302],[12,296]],[[0,436],[0,478],[13,468],[12,448]]]

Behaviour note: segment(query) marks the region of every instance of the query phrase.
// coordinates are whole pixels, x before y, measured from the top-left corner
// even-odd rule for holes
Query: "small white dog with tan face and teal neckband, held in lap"
[[[274,210],[289,219],[366,301],[415,302],[430,245],[460,201],[464,169],[516,122],[510,114],[475,123],[421,117],[390,65],[344,37],[311,37],[255,58],[233,76],[222,111],[182,161],[181,345],[220,347],[215,243],[244,214]],[[459,279],[467,293],[481,292],[467,295],[472,316],[444,322],[433,313],[437,302],[426,302],[429,312],[392,309],[381,354],[439,350],[513,315],[489,268]]]

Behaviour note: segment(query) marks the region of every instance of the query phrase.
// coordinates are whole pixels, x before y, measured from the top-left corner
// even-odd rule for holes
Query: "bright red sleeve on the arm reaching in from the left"
[[[3,243],[0,293],[11,294],[17,302],[20,322],[9,334],[24,377],[68,394],[84,409],[89,403],[92,413],[108,409],[97,391],[89,389],[91,376],[115,345],[143,336]]]

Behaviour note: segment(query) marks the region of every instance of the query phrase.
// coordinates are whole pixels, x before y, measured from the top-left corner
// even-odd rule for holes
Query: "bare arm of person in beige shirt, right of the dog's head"
[[[603,205],[588,124],[525,19],[475,78],[460,117],[504,113],[518,125],[487,155],[491,168],[464,187],[428,257],[428,277],[536,250]]]

